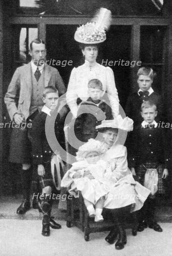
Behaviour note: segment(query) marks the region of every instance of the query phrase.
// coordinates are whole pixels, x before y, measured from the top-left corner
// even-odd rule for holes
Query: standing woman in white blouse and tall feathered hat
[[[108,93],[108,98],[113,112],[113,117],[119,113],[119,98],[115,86],[113,71],[109,67],[96,62],[98,56],[98,44],[106,40],[106,32],[110,25],[111,12],[105,8],[94,22],[87,23],[77,28],[74,39],[80,43],[85,63],[78,68],[73,68],[66,92],[66,101],[74,118],[77,116],[77,99],[88,99],[88,82],[97,78],[103,84],[103,91]],[[102,22],[104,21],[104,22]]]

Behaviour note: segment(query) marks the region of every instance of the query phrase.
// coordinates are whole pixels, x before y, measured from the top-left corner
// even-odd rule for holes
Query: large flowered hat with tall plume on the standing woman
[[[99,44],[106,40],[106,31],[111,23],[111,11],[100,8],[96,16],[85,25],[77,28],[74,40],[82,44]]]

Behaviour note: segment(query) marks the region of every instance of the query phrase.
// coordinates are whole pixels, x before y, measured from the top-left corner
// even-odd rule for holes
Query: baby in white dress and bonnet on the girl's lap
[[[69,192],[74,196],[76,196],[76,190],[81,191],[89,216],[95,216],[95,222],[103,221],[102,209],[105,196],[112,185],[109,180],[111,166],[104,160],[100,160],[102,152],[103,147],[100,141],[88,140],[80,146],[76,153],[78,162],[72,164],[61,182],[63,187],[70,186]]]

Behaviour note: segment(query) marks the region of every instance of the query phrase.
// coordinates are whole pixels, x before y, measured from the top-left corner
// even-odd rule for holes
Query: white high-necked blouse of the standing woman
[[[80,98],[81,100],[88,99],[88,82],[94,78],[97,78],[102,82],[103,91],[108,93],[113,117],[117,116],[119,114],[119,98],[112,69],[102,66],[97,62],[90,67],[90,62],[88,61],[85,61],[85,63],[78,68],[73,68],[70,75],[66,92],[66,101],[73,116],[77,116],[77,98]]]

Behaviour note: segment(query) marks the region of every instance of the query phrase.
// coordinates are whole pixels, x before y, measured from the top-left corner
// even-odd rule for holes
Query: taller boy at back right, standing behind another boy
[[[140,114],[141,104],[144,101],[151,100],[157,107],[158,114],[155,117],[155,121],[159,122],[162,118],[162,98],[152,89],[153,78],[156,74],[153,72],[152,68],[139,68],[137,72],[137,83],[139,85],[139,90],[133,92],[127,99],[127,104],[125,107],[125,114],[129,118],[133,119],[134,127],[141,124],[142,117]]]

